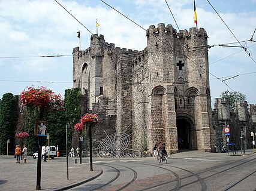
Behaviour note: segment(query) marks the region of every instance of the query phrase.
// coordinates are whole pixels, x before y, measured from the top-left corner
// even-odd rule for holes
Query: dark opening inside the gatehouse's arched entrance
[[[177,119],[177,137],[182,138],[183,144],[179,149],[192,149],[191,147],[191,124],[184,118]]]

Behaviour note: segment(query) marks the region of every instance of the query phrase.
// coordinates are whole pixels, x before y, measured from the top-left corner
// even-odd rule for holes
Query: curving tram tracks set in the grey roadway
[[[253,156],[253,155],[252,155]],[[152,161],[147,161],[145,164],[144,162],[139,161],[111,161],[111,164],[104,164],[104,162],[97,162],[97,165],[101,165],[103,167],[107,167],[106,171],[103,171],[103,174],[108,172],[108,169],[113,169],[116,172],[116,175],[111,180],[107,181],[104,184],[101,184],[100,186],[93,185],[91,188],[88,189],[88,186],[84,187],[84,189],[80,188],[79,190],[133,190],[134,187],[136,187],[136,190],[180,190],[180,189],[189,189],[193,188],[194,190],[231,190],[233,187],[236,187],[237,184],[242,183],[247,178],[251,177],[252,175],[255,175],[256,170],[249,172],[248,174],[244,175],[243,177],[240,177],[239,180],[232,181],[231,183],[228,182],[226,186],[221,187],[221,189],[215,189],[215,187],[211,187],[212,184],[211,181],[215,181],[215,179],[218,179],[225,175],[224,173],[232,172],[234,170],[238,171],[237,168],[243,168],[243,165],[245,167],[248,167],[248,163],[254,164],[255,158],[251,158],[252,156],[248,156],[245,158],[240,159],[239,161],[234,162],[222,162],[220,163],[218,161],[217,165],[214,165],[213,167],[204,168],[203,170],[187,170],[185,168],[177,167],[175,165],[171,165],[170,159],[168,160],[169,163],[167,164],[152,164]],[[127,165],[121,165],[117,164],[125,163]],[[156,161],[155,161],[156,162]],[[132,164],[134,164],[134,167],[132,167]],[[142,168],[142,165],[146,165],[146,168],[153,169],[156,171],[158,175],[155,175],[152,173],[147,176],[148,178],[140,178],[140,180],[137,180],[138,178],[138,172],[141,172],[141,170],[136,170],[136,168]],[[129,167],[127,167],[129,166]],[[121,168],[119,168],[121,167]],[[152,168],[151,168],[152,167]],[[129,174],[131,171],[132,174]],[[161,169],[156,170],[156,169]],[[176,169],[176,170],[174,170]],[[177,173],[177,170],[180,170]],[[124,172],[126,175],[122,175]],[[146,183],[149,180],[152,180],[150,178],[159,178],[159,174],[161,177],[164,177],[163,180],[159,181],[152,181],[150,184]],[[128,177],[128,181],[124,181],[124,177]],[[218,177],[219,176],[219,177]],[[213,178],[215,177],[215,178]],[[141,186],[140,186],[141,183]],[[143,183],[146,183],[143,184]],[[95,184],[92,182],[92,184]],[[97,181],[96,181],[97,184]],[[207,186],[207,184],[210,184],[210,186]],[[214,185],[214,184],[213,184]],[[138,187],[137,187],[138,186]],[[186,190],[185,189],[185,190]],[[76,189],[75,189],[76,190]],[[254,190],[256,190],[254,188]]]

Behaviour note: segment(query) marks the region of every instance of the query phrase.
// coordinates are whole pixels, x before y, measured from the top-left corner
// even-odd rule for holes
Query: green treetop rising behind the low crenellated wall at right
[[[234,106],[236,101],[245,101],[246,96],[245,94],[239,93],[238,91],[224,91],[222,95],[220,96],[221,98],[226,98],[230,101],[230,109],[234,110]]]

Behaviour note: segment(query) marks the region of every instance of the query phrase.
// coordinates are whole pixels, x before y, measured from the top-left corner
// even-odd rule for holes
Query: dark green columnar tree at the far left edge
[[[11,93],[2,96],[0,104],[0,153],[6,154],[7,140],[10,139],[8,150],[14,150],[15,130],[17,124],[19,109],[18,97]]]

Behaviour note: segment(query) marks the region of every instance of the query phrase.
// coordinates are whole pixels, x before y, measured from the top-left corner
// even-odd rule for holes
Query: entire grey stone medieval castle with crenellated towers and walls
[[[82,113],[97,113],[94,140],[107,134],[129,134],[131,149],[152,150],[165,143],[168,153],[184,149],[213,152],[235,143],[252,147],[256,106],[215,99],[211,108],[207,34],[202,28],[177,32],[168,24],[149,26],[147,47],[127,50],[91,36],[91,47],[73,50],[73,87],[80,88]],[[230,135],[224,128],[230,127]],[[242,141],[240,141],[240,137]],[[119,140],[121,141],[121,140]],[[97,146],[95,143],[94,147]]]

